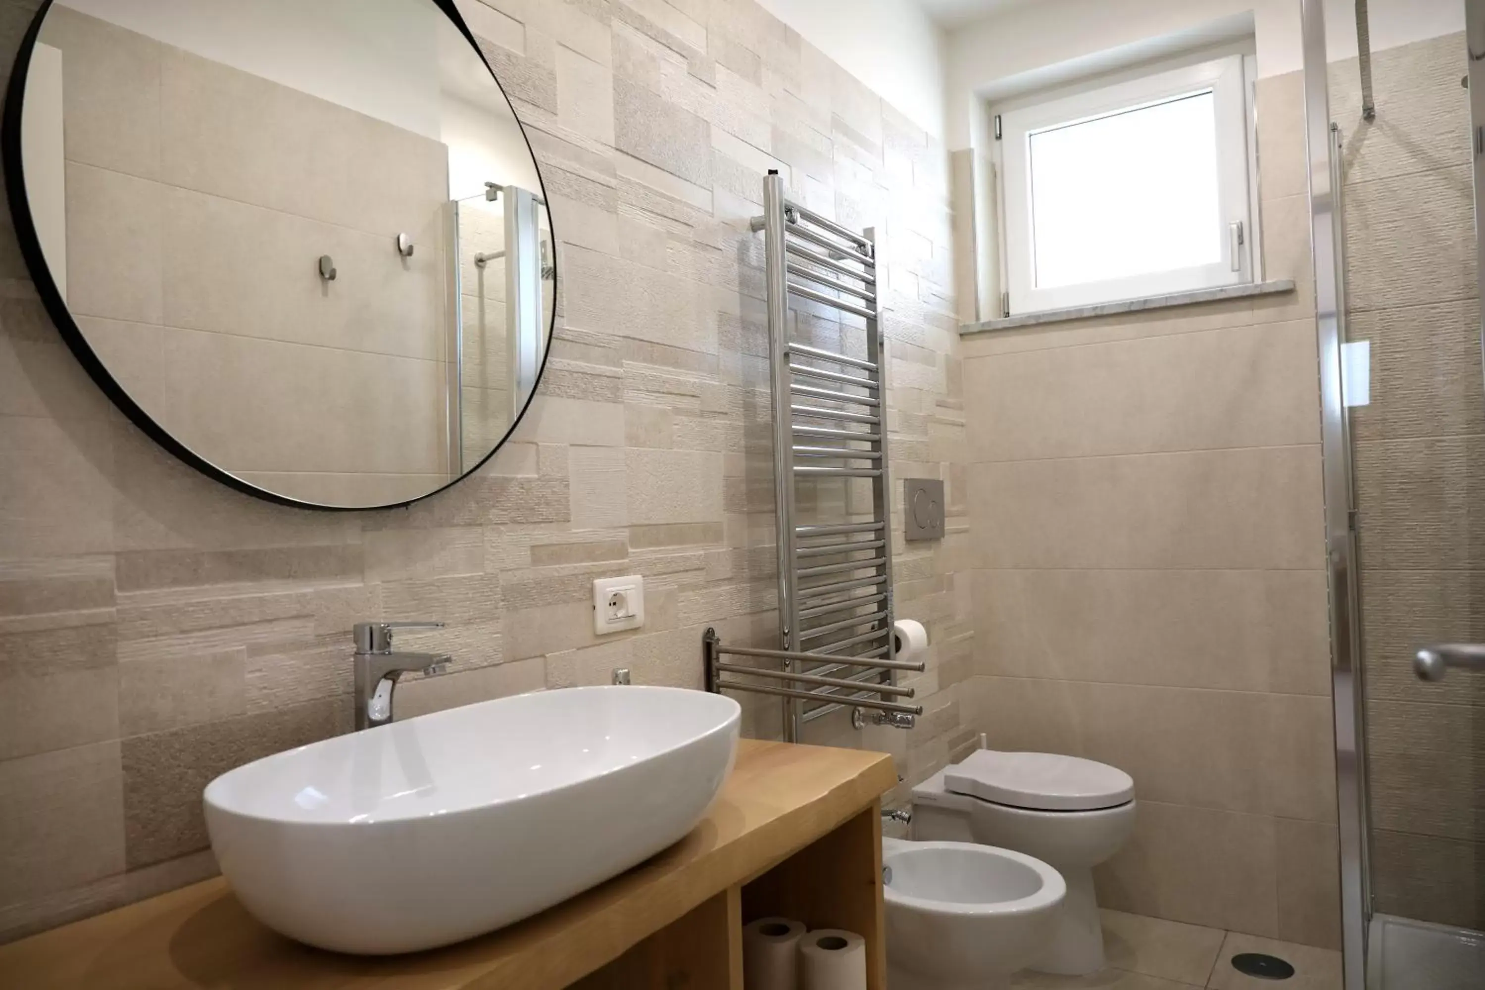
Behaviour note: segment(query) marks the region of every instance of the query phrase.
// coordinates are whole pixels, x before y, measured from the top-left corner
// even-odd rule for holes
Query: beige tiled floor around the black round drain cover
[[[1200,925],[1142,914],[1103,911],[1103,945],[1109,966],[1093,977],[1022,972],[1014,990],[1341,990],[1341,953],[1277,943]],[[1233,969],[1238,953],[1268,953],[1295,968],[1290,980],[1255,980]]]

